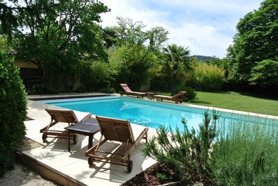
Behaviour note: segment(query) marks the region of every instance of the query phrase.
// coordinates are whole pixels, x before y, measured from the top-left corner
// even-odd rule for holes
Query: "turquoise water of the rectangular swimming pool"
[[[160,124],[171,126],[172,128],[175,128],[177,125],[180,130],[183,130],[182,118],[187,120],[188,128],[197,129],[198,125],[202,123],[203,114],[206,110],[126,96],[102,96],[82,99],[46,100],[41,102],[62,108],[91,112],[93,115],[129,119],[133,124],[140,124],[151,128],[158,128]],[[243,118],[246,120],[246,116],[235,115],[229,112],[220,112],[220,115],[220,120],[225,122],[240,121]],[[248,119],[250,119],[250,122],[254,122],[253,119],[257,121],[258,117],[250,117]],[[263,121],[264,124],[268,123],[265,118],[259,120]]]

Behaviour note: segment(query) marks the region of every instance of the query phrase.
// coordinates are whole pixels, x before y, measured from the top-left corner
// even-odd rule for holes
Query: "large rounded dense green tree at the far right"
[[[265,0],[259,10],[247,13],[240,19],[234,44],[228,49],[229,78],[239,83],[254,81],[264,60],[277,61],[278,56],[278,0]],[[268,65],[269,66],[269,65]],[[275,69],[270,74],[275,74]],[[261,71],[263,73],[263,71]],[[254,78],[256,76],[256,78]],[[267,78],[265,78],[267,81]],[[268,84],[268,83],[264,83]],[[277,85],[277,83],[276,83]]]

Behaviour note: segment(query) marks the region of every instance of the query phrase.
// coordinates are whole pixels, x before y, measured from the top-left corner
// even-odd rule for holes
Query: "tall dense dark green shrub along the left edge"
[[[1,38],[0,38],[1,39]],[[13,167],[15,151],[25,135],[26,94],[19,69],[0,40],[0,176]]]

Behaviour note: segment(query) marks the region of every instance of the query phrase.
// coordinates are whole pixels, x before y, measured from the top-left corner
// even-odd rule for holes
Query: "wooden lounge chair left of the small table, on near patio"
[[[70,125],[76,124],[79,121],[83,121],[91,117],[90,112],[79,112],[76,110],[52,110],[52,109],[45,109],[47,113],[51,116],[51,121],[49,125],[45,126],[44,128],[40,129],[40,133],[42,134],[42,140],[47,140],[47,137],[57,137],[57,138],[65,138],[67,139],[67,132],[66,130],[51,130],[51,126],[54,126],[60,122],[67,123]],[[70,138],[74,141],[74,144],[77,143],[77,135],[71,134]]]

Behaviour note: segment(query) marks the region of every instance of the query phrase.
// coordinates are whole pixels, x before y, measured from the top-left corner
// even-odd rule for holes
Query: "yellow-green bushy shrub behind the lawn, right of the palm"
[[[197,90],[217,91],[225,81],[224,70],[217,65],[199,62],[193,67],[194,87]]]

